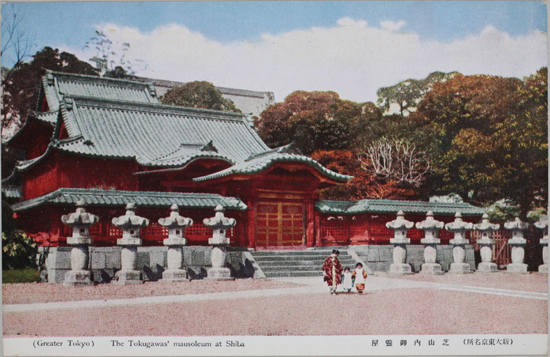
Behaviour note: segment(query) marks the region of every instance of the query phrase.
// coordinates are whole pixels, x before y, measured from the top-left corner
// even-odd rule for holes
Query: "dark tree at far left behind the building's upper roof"
[[[45,69],[57,72],[89,74],[97,76],[96,69],[80,61],[74,54],[44,47],[32,56],[30,63],[21,63],[9,71],[2,80],[1,134],[7,139],[12,136],[36,108],[39,86]]]

